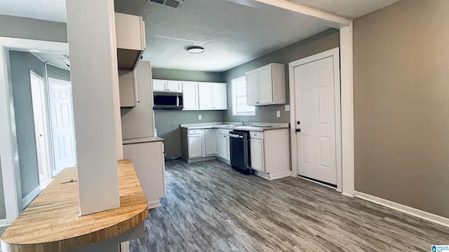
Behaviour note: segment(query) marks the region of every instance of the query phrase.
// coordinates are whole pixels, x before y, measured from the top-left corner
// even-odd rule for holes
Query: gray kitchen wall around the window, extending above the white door
[[[245,76],[246,71],[256,69],[270,63],[283,63],[286,67],[286,99],[289,104],[288,92],[288,63],[297,59],[314,55],[325,50],[336,48],[340,45],[340,34],[337,29],[328,29],[298,41],[291,45],[281,48],[267,55],[254,59],[248,63],[236,66],[233,69],[225,71],[223,78],[228,84],[228,94],[231,94],[231,80],[233,78]],[[239,122],[249,119],[251,122],[260,123],[290,123],[290,111],[285,111],[284,105],[257,106],[256,116],[232,116],[232,97],[228,95],[228,111],[224,113],[224,120],[229,122]],[[281,111],[281,117],[276,117],[276,111]]]

